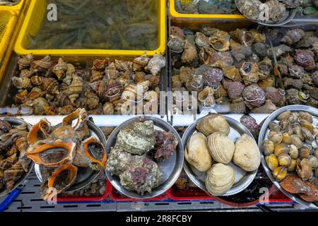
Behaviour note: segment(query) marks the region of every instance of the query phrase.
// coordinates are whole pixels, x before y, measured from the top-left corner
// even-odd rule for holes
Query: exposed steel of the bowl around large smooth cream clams
[[[230,117],[224,116],[226,121],[228,121],[228,124],[230,125],[230,134],[229,138],[232,141],[236,141],[237,138],[242,136],[242,134],[246,133],[247,135],[252,136],[252,133],[249,132],[249,130],[241,124],[239,121],[236,121],[235,119],[232,119]],[[184,132],[182,136],[182,144],[185,147],[187,145],[187,141],[192,136],[193,133],[196,133],[196,124],[198,124],[201,120],[204,118],[198,119],[187,128],[187,130]],[[257,170],[253,172],[245,172],[245,170],[241,169],[237,165],[235,165],[233,162],[229,164],[234,170],[235,170],[235,184],[232,186],[232,188],[223,196],[232,196],[234,194],[240,193],[240,191],[243,191],[246,189],[249,184],[252,183],[254,177],[257,174]],[[184,161],[184,171],[187,173],[188,177],[196,184],[196,186],[199,186],[200,189],[206,191],[208,194],[208,191],[206,189],[205,184],[205,177],[206,172],[199,172],[199,170],[195,169],[190,165],[187,161]]]

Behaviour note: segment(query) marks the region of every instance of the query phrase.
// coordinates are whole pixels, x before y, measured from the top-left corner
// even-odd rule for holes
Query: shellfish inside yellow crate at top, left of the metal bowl
[[[175,9],[179,13],[189,14],[238,14],[234,0],[199,0],[182,4],[181,0],[175,1]]]

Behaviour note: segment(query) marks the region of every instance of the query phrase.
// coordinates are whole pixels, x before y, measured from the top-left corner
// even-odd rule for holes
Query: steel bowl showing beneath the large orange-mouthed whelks
[[[91,121],[87,121],[87,124],[88,129],[90,130],[89,136],[94,136],[100,142],[102,142],[104,147],[106,147],[106,138],[104,136],[104,133],[102,133],[102,130]],[[60,124],[58,124],[57,126],[59,125]],[[42,182],[42,170],[40,165],[35,164],[34,169],[37,178],[40,180],[40,182]],[[83,187],[90,184],[90,182],[93,182],[93,180],[98,177],[98,174],[100,172],[101,170],[93,170],[90,167],[78,167],[75,182],[73,182],[72,186],[69,189],[66,189],[64,192],[78,191],[80,189],[83,189]]]

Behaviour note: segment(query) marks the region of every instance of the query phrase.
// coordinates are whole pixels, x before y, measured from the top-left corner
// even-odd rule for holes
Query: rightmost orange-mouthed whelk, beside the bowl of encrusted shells
[[[81,143],[81,151],[88,157],[92,169],[105,169],[107,159],[106,150],[104,145],[95,137],[91,136],[83,141]]]

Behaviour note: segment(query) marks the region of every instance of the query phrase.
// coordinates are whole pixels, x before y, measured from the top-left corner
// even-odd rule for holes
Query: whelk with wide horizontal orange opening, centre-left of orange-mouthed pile
[[[76,143],[73,141],[56,140],[35,143],[28,148],[26,155],[38,165],[44,167],[60,167],[73,162]]]

